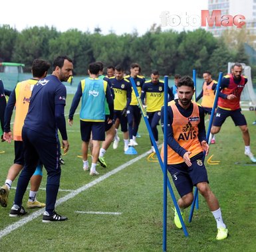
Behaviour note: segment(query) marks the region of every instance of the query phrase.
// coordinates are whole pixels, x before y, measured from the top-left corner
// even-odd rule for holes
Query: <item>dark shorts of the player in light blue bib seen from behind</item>
[[[82,121],[80,120],[80,133],[82,141],[90,141],[90,133],[92,140],[105,140],[105,122],[104,121]]]

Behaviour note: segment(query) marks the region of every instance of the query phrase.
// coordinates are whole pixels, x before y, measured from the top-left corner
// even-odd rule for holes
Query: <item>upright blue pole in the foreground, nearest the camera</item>
[[[163,204],[163,251],[166,251],[167,226],[167,125],[168,125],[168,76],[164,76],[164,204]]]

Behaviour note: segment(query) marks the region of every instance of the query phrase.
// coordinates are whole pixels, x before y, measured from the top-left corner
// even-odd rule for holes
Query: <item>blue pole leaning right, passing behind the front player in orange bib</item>
[[[219,87],[221,86],[222,76],[223,76],[223,72],[219,72],[218,84],[217,84],[217,88],[216,88],[216,93],[215,93],[215,98],[214,98],[214,102],[213,102],[213,107],[211,109],[211,117],[209,119],[209,126],[208,126],[207,134],[206,134],[206,141],[207,142],[209,141],[209,134],[211,133],[211,125],[213,123],[214,111],[215,111],[215,108],[217,107],[217,101],[218,101],[218,97],[219,97]],[[195,207],[194,201],[196,200],[195,199],[195,195],[196,194],[198,195],[198,188],[197,187],[195,188],[195,192],[194,192],[194,198],[193,198],[193,202],[192,202],[192,206],[191,206],[191,210],[190,210],[190,218],[188,219],[189,222],[191,222],[192,218],[193,218],[193,208]]]

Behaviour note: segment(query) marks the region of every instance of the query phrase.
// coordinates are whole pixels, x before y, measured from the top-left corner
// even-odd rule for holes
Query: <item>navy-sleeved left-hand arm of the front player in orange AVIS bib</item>
[[[168,106],[168,125],[167,125],[167,144],[181,157],[187,152],[186,149],[182,148],[178,142],[174,139],[174,131],[172,129],[173,113],[170,106]],[[161,126],[164,133],[164,106],[161,109]]]

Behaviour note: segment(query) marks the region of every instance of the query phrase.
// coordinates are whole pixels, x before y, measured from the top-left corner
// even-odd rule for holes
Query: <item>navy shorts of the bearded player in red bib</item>
[[[221,127],[225,122],[225,119],[229,116],[232,118],[235,126],[247,125],[245,116],[242,114],[241,109],[226,110],[218,107],[213,118],[213,126]]]

